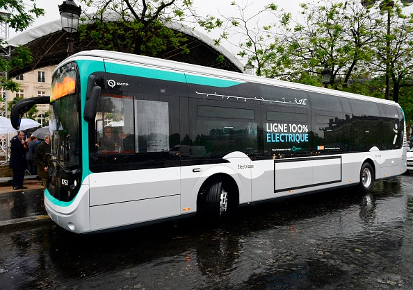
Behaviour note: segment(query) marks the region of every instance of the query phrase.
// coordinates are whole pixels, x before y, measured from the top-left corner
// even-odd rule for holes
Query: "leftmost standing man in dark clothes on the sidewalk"
[[[10,140],[10,163],[9,168],[13,169],[13,189],[26,189],[23,185],[24,172],[27,169],[26,152],[29,147],[24,141],[24,132],[18,131],[17,136]]]

